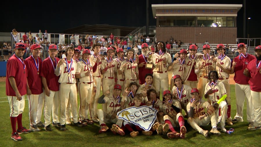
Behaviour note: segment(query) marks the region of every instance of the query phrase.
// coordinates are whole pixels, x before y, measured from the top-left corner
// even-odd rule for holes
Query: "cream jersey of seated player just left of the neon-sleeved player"
[[[188,103],[187,105],[187,111],[188,113],[190,112],[190,105],[191,105],[191,102]],[[209,102],[207,101],[204,101],[202,98],[200,98],[200,101],[197,103],[197,105],[194,107],[194,117],[199,117],[201,115],[204,115],[206,112],[205,112],[205,108],[207,110],[209,110],[209,107],[211,105],[209,104]]]

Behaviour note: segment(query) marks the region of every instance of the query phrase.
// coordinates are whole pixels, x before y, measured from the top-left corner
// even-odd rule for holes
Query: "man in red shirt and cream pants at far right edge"
[[[249,85],[251,89],[251,97],[254,106],[255,121],[250,124],[248,130],[260,130],[261,124],[261,45],[255,47],[256,59],[249,62],[247,69],[244,70],[244,75],[250,77]]]

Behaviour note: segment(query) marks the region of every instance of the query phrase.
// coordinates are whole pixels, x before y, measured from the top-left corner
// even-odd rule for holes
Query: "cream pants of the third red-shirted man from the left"
[[[60,97],[59,91],[50,90],[50,96],[47,96],[44,92],[44,126],[50,125],[51,122],[51,114],[52,121],[54,123],[59,123],[59,106],[60,106]]]

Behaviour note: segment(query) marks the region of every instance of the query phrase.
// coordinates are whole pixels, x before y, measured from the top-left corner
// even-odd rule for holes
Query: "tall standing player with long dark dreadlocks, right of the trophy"
[[[166,53],[164,42],[157,42],[156,51],[151,57],[153,62],[153,85],[156,87],[157,98],[160,98],[160,89],[162,92],[168,89],[167,66],[171,64],[171,55]]]

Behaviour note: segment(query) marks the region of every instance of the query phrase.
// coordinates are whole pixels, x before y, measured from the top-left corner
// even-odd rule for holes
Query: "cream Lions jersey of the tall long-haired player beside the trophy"
[[[164,64],[164,60],[167,61],[167,64],[171,64],[171,55],[169,53],[164,53],[163,55],[159,55],[158,53],[154,53],[151,57],[151,61],[153,62],[153,72],[166,72],[167,65]]]

